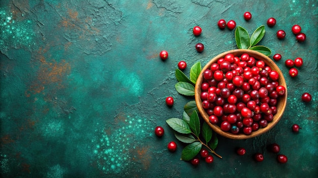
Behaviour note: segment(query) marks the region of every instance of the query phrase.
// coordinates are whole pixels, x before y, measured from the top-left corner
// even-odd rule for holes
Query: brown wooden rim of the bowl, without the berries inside
[[[265,62],[265,64],[267,66],[270,66],[272,70],[275,70],[278,72],[279,74],[279,78],[278,78],[278,83],[279,85],[283,85],[286,88],[286,92],[285,95],[283,96],[279,96],[277,98],[277,113],[274,115],[274,118],[271,122],[268,123],[268,125],[264,128],[259,128],[256,131],[252,131],[252,133],[250,135],[245,135],[244,133],[238,133],[238,134],[234,134],[231,133],[229,131],[223,131],[220,129],[220,127],[216,124],[211,124],[209,121],[209,116],[206,113],[205,109],[202,107],[202,100],[201,100],[201,83],[203,82],[204,78],[203,78],[203,72],[206,69],[209,69],[211,64],[216,63],[217,60],[219,58],[224,58],[227,54],[232,53],[234,56],[241,56],[244,53],[247,53],[249,56],[254,57],[257,60],[262,60]],[[201,116],[203,117],[203,119],[207,122],[207,124],[216,132],[218,133],[218,135],[221,135],[223,137],[229,138],[229,139],[236,139],[236,140],[240,140],[240,139],[249,139],[249,138],[253,138],[253,137],[257,137],[259,135],[262,135],[263,133],[267,132],[268,130],[270,130],[271,128],[273,128],[277,122],[279,121],[279,119],[281,118],[286,103],[287,103],[287,86],[286,86],[286,81],[283,77],[283,74],[281,73],[280,69],[278,68],[278,66],[275,64],[275,62],[273,62],[270,58],[268,58],[267,56],[263,55],[262,53],[259,53],[257,51],[252,51],[252,50],[231,50],[231,51],[227,51],[224,52],[222,54],[217,55],[216,57],[214,57],[211,61],[209,61],[202,69],[197,82],[196,82],[196,87],[195,87],[195,99],[196,99],[196,104],[199,110],[199,113],[201,114]]]

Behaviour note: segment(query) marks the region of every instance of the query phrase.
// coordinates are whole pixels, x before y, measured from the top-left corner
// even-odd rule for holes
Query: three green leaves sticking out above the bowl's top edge
[[[266,56],[269,56],[272,54],[269,48],[264,46],[256,46],[256,44],[262,40],[264,35],[265,35],[264,25],[257,28],[250,37],[248,32],[245,30],[245,28],[238,26],[235,29],[236,46],[238,49],[254,50],[254,51],[263,53]]]

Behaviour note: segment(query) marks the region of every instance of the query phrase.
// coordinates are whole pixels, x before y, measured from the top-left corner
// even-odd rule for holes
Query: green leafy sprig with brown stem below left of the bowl
[[[218,139],[209,125],[204,122],[200,124],[200,118],[197,110],[193,110],[189,116],[186,111],[183,112],[183,118],[170,118],[166,120],[167,124],[175,130],[175,137],[183,143],[188,144],[181,152],[181,160],[189,161],[193,159],[205,146],[211,153],[219,158],[214,149],[217,146]]]

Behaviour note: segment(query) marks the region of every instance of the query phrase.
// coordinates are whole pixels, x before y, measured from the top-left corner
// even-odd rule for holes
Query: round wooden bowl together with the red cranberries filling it
[[[198,110],[210,127],[231,139],[256,137],[283,114],[287,86],[277,65],[251,50],[213,58],[196,83]]]

